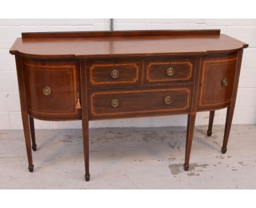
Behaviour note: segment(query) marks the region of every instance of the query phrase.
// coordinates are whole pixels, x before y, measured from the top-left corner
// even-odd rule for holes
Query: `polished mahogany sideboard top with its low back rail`
[[[10,48],[34,58],[170,56],[238,51],[248,44],[220,30],[22,33]]]

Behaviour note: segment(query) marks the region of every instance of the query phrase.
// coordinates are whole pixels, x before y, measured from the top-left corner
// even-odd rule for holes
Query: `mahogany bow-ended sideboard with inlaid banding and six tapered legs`
[[[234,114],[243,48],[220,30],[22,33],[15,55],[22,123],[33,172],[34,120],[82,120],[85,180],[89,121],[188,114],[184,169],[196,112],[228,108],[222,153]],[[32,145],[31,145],[32,143]]]

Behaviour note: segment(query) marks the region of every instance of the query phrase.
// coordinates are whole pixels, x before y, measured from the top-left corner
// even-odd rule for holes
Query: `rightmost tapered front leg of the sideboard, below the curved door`
[[[229,133],[231,129],[234,110],[235,110],[235,104],[228,107],[228,109],[226,110],[226,124],[225,124],[225,131],[224,131],[224,138],[223,138],[223,145],[222,145],[223,154],[225,154],[226,150],[228,150],[226,146],[228,145]]]

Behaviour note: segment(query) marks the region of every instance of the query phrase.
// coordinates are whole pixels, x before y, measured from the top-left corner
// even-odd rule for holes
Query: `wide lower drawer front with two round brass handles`
[[[159,89],[90,91],[89,117],[132,118],[189,112],[190,87]]]

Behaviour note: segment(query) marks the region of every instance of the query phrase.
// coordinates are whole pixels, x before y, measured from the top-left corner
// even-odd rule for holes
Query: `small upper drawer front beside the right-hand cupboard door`
[[[191,82],[195,69],[195,59],[146,60],[146,84]]]

